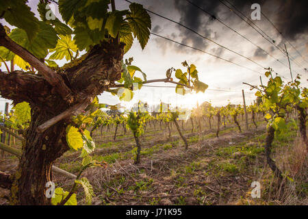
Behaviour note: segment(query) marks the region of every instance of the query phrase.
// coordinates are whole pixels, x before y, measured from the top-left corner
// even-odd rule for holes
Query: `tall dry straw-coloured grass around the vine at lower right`
[[[284,173],[279,181],[266,164],[255,163],[254,180],[261,183],[261,198],[246,196],[238,204],[248,205],[308,205],[307,149],[300,136],[290,146],[276,150],[274,159]],[[263,166],[263,168],[260,168]],[[249,193],[249,192],[248,192]]]

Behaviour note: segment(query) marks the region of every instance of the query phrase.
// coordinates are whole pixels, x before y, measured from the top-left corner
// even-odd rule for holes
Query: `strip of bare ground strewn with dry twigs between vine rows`
[[[94,204],[112,205],[222,205],[233,203],[250,189],[246,172],[217,172],[218,149],[249,142],[264,127],[247,133],[231,133],[201,140],[190,146],[142,157],[136,166],[129,159],[107,169],[84,173],[95,188]],[[260,161],[261,166],[264,162]],[[219,173],[219,174],[218,174]],[[232,192],[231,192],[232,191]],[[82,201],[81,201],[82,203]]]

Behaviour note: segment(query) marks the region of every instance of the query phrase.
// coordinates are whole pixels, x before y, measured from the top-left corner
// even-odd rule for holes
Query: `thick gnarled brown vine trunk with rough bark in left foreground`
[[[44,132],[37,132],[37,128],[73,105],[82,103],[86,97],[93,98],[114,86],[114,81],[121,77],[124,45],[115,39],[101,42],[78,60],[56,70],[73,91],[75,101],[71,103],[40,72],[33,75],[0,71],[1,96],[12,99],[14,103],[27,101],[31,106],[31,123],[25,133],[21,162],[11,188],[13,205],[51,204],[45,196],[45,185],[53,180],[52,163],[69,149],[66,127],[71,120],[60,120]]]

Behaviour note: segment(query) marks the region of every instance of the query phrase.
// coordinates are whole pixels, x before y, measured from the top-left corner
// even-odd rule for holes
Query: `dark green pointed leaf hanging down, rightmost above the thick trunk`
[[[141,48],[144,49],[150,37],[151,17],[138,3],[131,3],[129,9],[131,13],[127,14],[126,19],[129,21],[133,36],[138,38]]]

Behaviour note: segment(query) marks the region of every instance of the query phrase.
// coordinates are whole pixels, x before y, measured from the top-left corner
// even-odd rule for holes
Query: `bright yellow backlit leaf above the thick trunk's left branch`
[[[62,60],[64,57],[66,61],[73,60],[73,52],[77,52],[77,46],[75,40],[72,40],[70,35],[60,36],[57,40],[57,45],[54,49],[49,49],[50,53],[53,53],[50,60]]]

